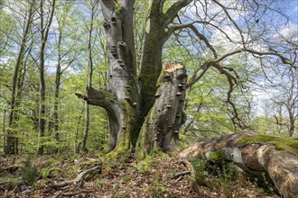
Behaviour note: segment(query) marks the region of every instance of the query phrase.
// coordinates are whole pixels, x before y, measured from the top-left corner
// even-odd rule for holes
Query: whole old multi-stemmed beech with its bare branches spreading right
[[[289,67],[295,67],[291,57],[274,49],[275,46],[266,50],[251,47],[254,41],[261,40],[261,37],[256,36],[256,31],[252,32],[251,37],[247,36],[252,30],[249,28],[254,27],[253,24],[257,26],[257,23],[262,23],[261,17],[265,16],[267,10],[273,12],[273,9],[266,9],[268,7],[263,1],[262,4],[255,0],[245,1],[246,4],[239,1],[233,4],[231,1],[227,1],[228,4],[220,2],[222,1],[144,1],[149,14],[146,19],[141,66],[137,66],[133,23],[135,1],[99,1],[105,18],[102,25],[107,33],[107,85],[102,90],[88,86],[86,94],[77,95],[88,104],[98,105],[107,110],[110,157],[125,158],[134,151],[136,156],[144,157],[154,148],[166,152],[172,140],[178,137],[178,130],[186,119],[182,112],[185,90],[196,83],[210,67],[227,77],[230,87],[227,103],[236,112],[230,94],[237,84],[237,68],[220,65],[222,60],[230,56],[239,53],[254,54],[258,58],[275,56]],[[210,4],[219,10],[221,20],[217,20],[218,14],[210,10]],[[182,15],[182,9],[187,6],[195,7],[197,19]],[[231,10],[237,12],[237,9],[239,12],[248,12],[242,21],[235,20],[233,14],[230,14]],[[213,16],[209,12],[213,13]],[[240,23],[244,21],[247,26],[242,27]],[[230,35],[224,29],[220,29],[218,23],[226,23],[236,30],[240,38],[234,42],[237,42],[237,48],[222,53],[212,46],[210,36],[204,35],[207,32],[203,31],[204,28],[220,31],[233,42]],[[206,58],[189,79],[186,66],[182,63],[162,63],[163,45],[166,40],[174,32],[186,29],[200,40],[205,50],[210,51],[210,58]],[[268,47],[269,43],[266,44]],[[140,68],[140,72],[137,72],[137,68]],[[237,113],[234,119],[237,120]]]

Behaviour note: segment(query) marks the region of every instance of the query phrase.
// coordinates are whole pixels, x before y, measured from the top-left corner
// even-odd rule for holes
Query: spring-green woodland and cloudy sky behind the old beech
[[[107,42],[101,25],[103,17],[96,2],[59,0],[50,23],[51,1],[44,1],[43,15],[31,10],[27,0],[0,1],[1,152],[5,148],[8,130],[14,132],[17,139],[15,153],[19,154],[36,154],[41,147],[44,153],[70,155],[105,149],[108,139],[105,111],[89,106],[89,124],[86,125],[84,102],[74,94],[83,93],[88,84],[90,61],[93,64],[92,85],[99,89],[107,81]],[[145,28],[145,18],[139,16],[148,14],[143,3],[135,3],[138,63],[141,61]],[[289,11],[287,6],[289,4],[281,7],[284,15]],[[42,26],[41,17],[44,20]],[[275,20],[274,16],[270,20]],[[297,22],[290,20],[271,40],[283,48],[297,49],[297,27]],[[48,39],[42,45],[41,37],[45,34]],[[191,37],[191,40],[183,37]],[[191,75],[205,58],[203,53],[198,53],[200,42],[196,40],[189,31],[173,34],[164,46],[163,61],[182,62]],[[219,50],[230,45],[221,35],[212,35],[211,40]],[[242,54],[224,63],[227,67],[237,66],[237,75],[241,79],[241,85],[231,94],[239,120],[247,130],[297,137],[297,70],[279,64],[275,58],[269,66],[261,63],[262,67],[259,67],[258,61],[253,56]],[[18,72],[17,78],[14,78],[15,71]],[[185,147],[196,139],[242,131],[231,119],[234,114],[224,100],[227,92],[227,79],[213,68],[188,89],[184,106],[187,121],[180,132],[180,146]],[[15,113],[12,116],[10,103],[13,93]],[[38,126],[41,117],[44,120],[42,133]]]

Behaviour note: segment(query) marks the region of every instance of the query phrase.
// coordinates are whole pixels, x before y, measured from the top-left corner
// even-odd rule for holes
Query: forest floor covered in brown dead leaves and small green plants
[[[278,197],[265,193],[244,177],[207,176],[213,189],[199,186],[193,176],[173,174],[187,170],[172,157],[102,165],[100,157],[0,157],[0,197]],[[98,159],[99,158],[99,159]],[[75,179],[82,170],[99,166],[83,182],[50,187]],[[235,180],[235,181],[234,181]]]

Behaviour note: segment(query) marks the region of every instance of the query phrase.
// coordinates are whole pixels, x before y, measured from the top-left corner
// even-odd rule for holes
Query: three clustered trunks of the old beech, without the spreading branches
[[[87,103],[107,110],[109,150],[112,150],[110,157],[127,157],[128,151],[135,148],[137,139],[139,156],[144,156],[153,148],[167,151],[183,120],[186,73],[182,64],[170,64],[163,68],[162,50],[164,42],[173,32],[173,29],[166,31],[167,26],[191,0],[177,1],[165,13],[164,1],[149,1],[150,17],[145,32],[139,78],[136,72],[133,27],[135,1],[99,2],[107,33],[107,85],[103,90],[88,86],[85,95],[77,95]],[[158,76],[161,84],[159,87],[155,86]]]

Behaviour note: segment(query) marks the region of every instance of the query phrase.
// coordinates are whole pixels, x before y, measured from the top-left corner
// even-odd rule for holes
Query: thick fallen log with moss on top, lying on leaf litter
[[[207,160],[223,157],[248,175],[267,175],[282,196],[298,197],[297,139],[237,133],[196,142],[178,155],[184,164],[201,157]]]

